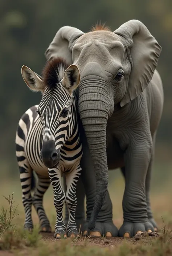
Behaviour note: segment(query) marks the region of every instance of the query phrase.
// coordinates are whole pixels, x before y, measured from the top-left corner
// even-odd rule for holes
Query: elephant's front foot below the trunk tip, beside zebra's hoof
[[[85,223],[83,229],[83,235],[90,235],[92,237],[112,237],[118,236],[118,229],[115,227],[113,222],[96,222],[95,228],[89,230],[87,228],[88,223]]]

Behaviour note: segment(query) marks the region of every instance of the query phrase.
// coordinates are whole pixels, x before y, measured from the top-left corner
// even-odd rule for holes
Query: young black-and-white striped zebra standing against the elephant
[[[40,104],[30,107],[22,115],[16,131],[16,157],[25,210],[24,229],[33,229],[33,203],[40,231],[51,232],[42,205],[43,195],[51,183],[57,215],[54,237],[79,237],[75,210],[82,145],[78,130],[78,101],[74,95],[80,82],[79,69],[76,65],[67,65],[64,59],[58,57],[46,63],[43,78],[26,66],[22,66],[21,74],[31,90],[42,93]],[[32,196],[33,170],[38,182]],[[66,195],[62,188],[62,174],[66,178]],[[67,227],[62,215],[64,202],[69,211]]]

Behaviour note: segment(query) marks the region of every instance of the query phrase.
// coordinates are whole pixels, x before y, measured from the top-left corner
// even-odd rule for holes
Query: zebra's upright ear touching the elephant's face
[[[62,79],[62,85],[69,90],[70,93],[74,89],[76,89],[80,82],[80,73],[79,69],[76,65],[70,65],[64,73],[64,77]]]

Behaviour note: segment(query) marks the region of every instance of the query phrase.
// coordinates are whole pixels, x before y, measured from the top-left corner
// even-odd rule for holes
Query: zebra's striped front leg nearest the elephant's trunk
[[[66,197],[65,202],[69,211],[69,221],[67,224],[67,236],[74,238],[79,237],[79,232],[77,229],[77,225],[75,223],[75,211],[77,207],[77,196],[76,196],[76,188],[79,180],[79,175],[81,174],[81,166],[77,165],[77,168],[71,170],[70,172],[66,172]]]

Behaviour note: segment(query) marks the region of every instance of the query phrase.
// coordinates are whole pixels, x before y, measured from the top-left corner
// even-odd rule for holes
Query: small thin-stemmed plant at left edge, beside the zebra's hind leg
[[[14,197],[13,197],[13,193],[12,196],[9,195],[8,197],[3,196],[7,202],[8,202],[8,212],[7,210],[4,209],[4,207],[2,207],[1,209],[1,213],[0,213],[0,233],[3,233],[4,231],[7,230],[13,230],[15,228],[15,224],[13,224],[13,219],[19,215],[16,214],[16,210],[18,205],[15,207],[14,206]]]

